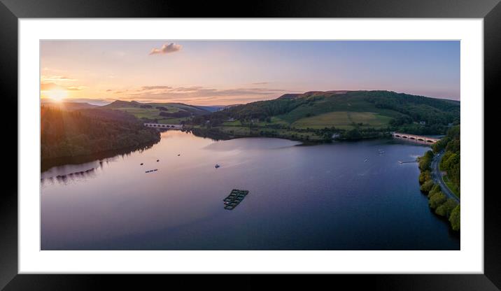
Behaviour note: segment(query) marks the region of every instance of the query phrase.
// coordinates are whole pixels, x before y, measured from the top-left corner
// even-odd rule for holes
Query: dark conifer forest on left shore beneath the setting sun
[[[104,109],[64,111],[41,107],[41,159],[90,155],[160,141],[156,129],[133,115]]]

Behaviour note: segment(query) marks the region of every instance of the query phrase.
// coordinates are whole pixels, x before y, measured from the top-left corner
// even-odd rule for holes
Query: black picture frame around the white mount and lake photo
[[[0,88],[4,106],[3,135],[8,152],[17,152],[17,20],[50,17],[439,17],[484,19],[484,96],[498,95],[501,72],[500,0],[344,0],[344,1],[132,1],[132,0],[0,0]],[[484,104],[487,98],[484,97]],[[491,101],[489,101],[491,103]],[[487,108],[484,106],[484,108]],[[491,123],[484,122],[486,127]],[[484,130],[484,133],[486,131]],[[15,145],[13,141],[15,140]],[[484,140],[485,143],[485,140]],[[484,147],[485,148],[485,147]],[[491,151],[489,151],[491,152]],[[484,154],[485,155],[485,154]],[[5,153],[8,165],[0,200],[0,288],[5,290],[94,290],[114,288],[116,283],[128,288],[149,289],[165,284],[164,276],[103,275],[27,275],[17,274],[17,155]],[[15,169],[12,165],[16,165]],[[465,170],[467,173],[467,170]],[[485,171],[488,173],[488,171]],[[493,173],[490,173],[491,177]],[[10,176],[10,177],[8,177]],[[15,177],[14,177],[15,176]],[[488,180],[488,179],[487,179]],[[9,187],[5,187],[8,185]],[[267,288],[286,285],[315,288],[327,283],[349,288],[382,290],[501,290],[500,198],[497,192],[484,191],[484,274],[406,274],[406,275],[335,275],[325,280],[307,276],[278,276]],[[433,264],[433,262],[430,262]],[[204,276],[199,280],[179,276],[176,282],[227,285],[230,288],[261,288],[261,277],[253,275]],[[169,278],[172,284],[172,278]],[[225,283],[223,284],[222,281]],[[231,286],[234,287],[231,287]],[[320,287],[320,285],[318,285]]]

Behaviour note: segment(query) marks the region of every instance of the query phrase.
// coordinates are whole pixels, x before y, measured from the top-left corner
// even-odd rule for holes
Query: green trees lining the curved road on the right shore
[[[447,199],[441,191],[440,185],[433,182],[431,175],[431,164],[435,153],[445,149],[445,153],[440,161],[441,171],[447,172],[447,178],[451,183],[447,183],[449,189],[459,194],[460,185],[460,126],[451,127],[447,135],[432,146],[432,150],[419,158],[419,183],[421,192],[428,195],[428,204],[437,215],[447,218],[453,230],[460,230],[460,204],[454,199]],[[456,189],[454,189],[456,188]],[[456,191],[455,191],[456,190]]]

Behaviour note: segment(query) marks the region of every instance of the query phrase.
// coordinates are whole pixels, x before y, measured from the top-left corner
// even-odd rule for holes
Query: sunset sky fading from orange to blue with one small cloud
[[[245,104],[390,90],[460,100],[460,41],[41,41],[41,98]]]

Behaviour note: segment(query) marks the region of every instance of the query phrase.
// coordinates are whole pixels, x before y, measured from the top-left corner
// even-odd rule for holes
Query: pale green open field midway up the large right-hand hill
[[[301,118],[292,123],[291,126],[299,129],[323,129],[325,127],[336,127],[337,129],[373,127],[380,129],[387,127],[391,119],[388,116],[372,112],[335,111]]]

